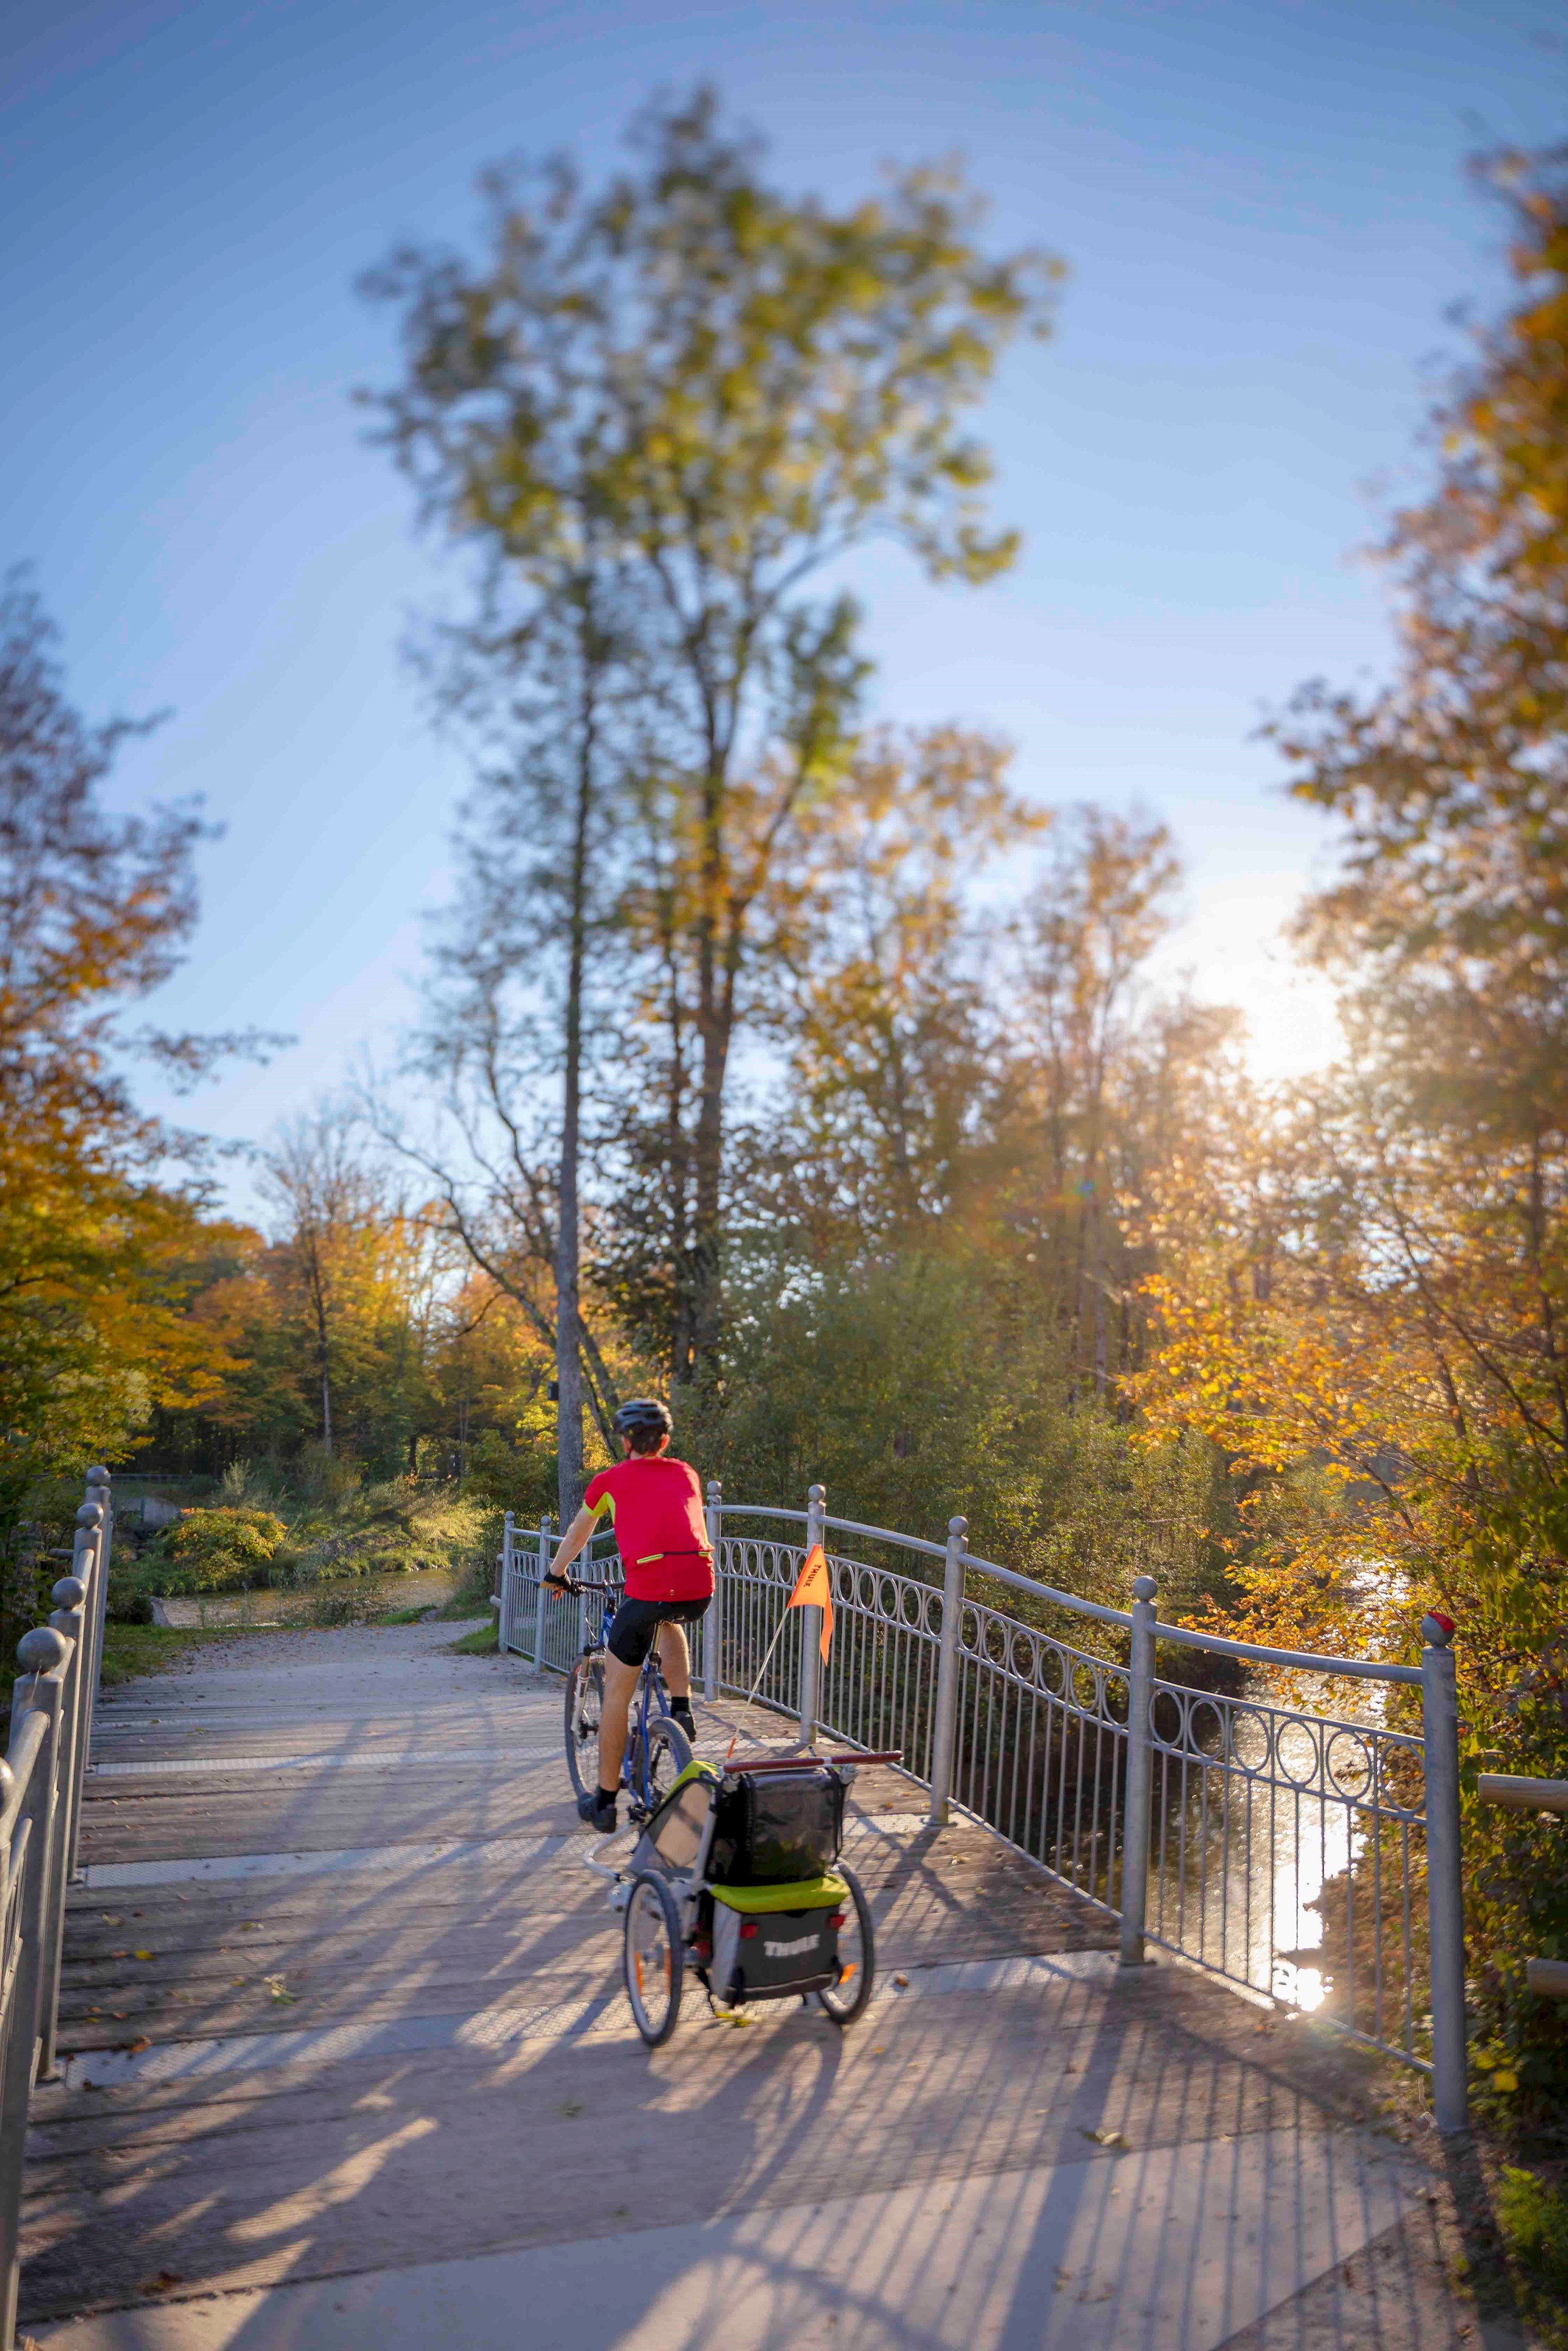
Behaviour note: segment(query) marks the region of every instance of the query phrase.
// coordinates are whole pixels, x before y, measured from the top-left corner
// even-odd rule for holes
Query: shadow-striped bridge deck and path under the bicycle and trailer
[[[1347,2121],[1354,2062],[1187,1970],[1119,1980],[1112,1921],[896,1773],[846,1843],[863,2024],[693,1998],[649,2057],[562,1686],[449,1641],[266,1634],[103,1704],[40,2344],[1502,2342],[1441,2285],[1441,2179]],[[722,1751],[736,1709],[698,1721]]]

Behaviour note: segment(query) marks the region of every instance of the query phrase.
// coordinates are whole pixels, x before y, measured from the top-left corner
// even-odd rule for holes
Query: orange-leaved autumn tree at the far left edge
[[[24,574],[0,592],[0,1512],[31,1479],[118,1455],[221,1357],[181,1312],[205,1201],[190,1138],[143,1117],[127,1063],[197,1077],[247,1039],[127,1027],[195,926],[193,809],[110,816],[99,785],[143,731],[66,701]],[[249,1039],[254,1044],[254,1039]],[[186,1178],[169,1168],[183,1157]]]

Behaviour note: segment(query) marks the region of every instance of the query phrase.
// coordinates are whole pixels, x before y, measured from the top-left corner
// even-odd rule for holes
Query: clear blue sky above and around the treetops
[[[1563,134],[1542,0],[12,0],[0,24],[5,560],[78,701],[169,708],[115,797],[205,792],[205,922],[165,1018],[299,1044],[197,1098],[268,1126],[386,1056],[444,893],[451,750],[400,665],[458,595],[357,383],[353,294],[400,235],[463,237],[487,160],[604,165],[654,87],[719,82],[783,183],[863,190],[961,153],[1001,245],[1072,270],[983,421],[1001,583],[856,567],[886,717],[1018,743],[1048,802],[1138,799],[1190,870],[1173,962],[1244,1002],[1262,1067],[1324,1051],[1272,947],[1326,846],[1255,738],[1302,677],[1378,675],[1354,550],[1418,480],[1446,313],[1502,287],[1483,143]]]

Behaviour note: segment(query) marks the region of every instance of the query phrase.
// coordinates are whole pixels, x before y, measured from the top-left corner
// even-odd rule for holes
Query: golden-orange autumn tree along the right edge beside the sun
[[[1187,1187],[1145,1394],[1255,1481],[1251,1625],[1410,1653],[1429,1606],[1460,1620],[1472,1968],[1561,2102],[1568,2034],[1523,1989],[1568,1954],[1561,1860],[1469,1787],[1568,1766],[1568,150],[1490,176],[1519,299],[1385,548],[1396,672],[1279,726],[1342,823],[1300,931],[1349,1053]]]

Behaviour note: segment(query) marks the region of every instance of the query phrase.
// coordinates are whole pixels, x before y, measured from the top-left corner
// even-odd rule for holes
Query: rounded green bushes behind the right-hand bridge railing
[[[1225,1592],[1222,1455],[1070,1411],[1039,1326],[973,1260],[893,1258],[755,1298],[722,1411],[677,1389],[675,1448],[736,1505],[802,1507],[820,1481],[835,1516],[933,1542],[961,1514],[973,1552],[1112,1606],[1143,1573],[1166,1610]]]

